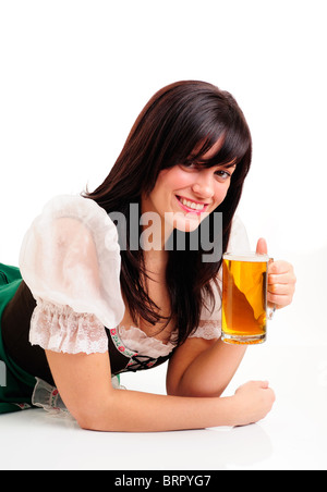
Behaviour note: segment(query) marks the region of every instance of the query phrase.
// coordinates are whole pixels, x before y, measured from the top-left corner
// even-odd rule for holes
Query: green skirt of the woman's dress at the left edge
[[[32,407],[36,379],[22,370],[4,350],[1,318],[8,303],[22,282],[16,267],[0,263],[0,414],[20,411]]]

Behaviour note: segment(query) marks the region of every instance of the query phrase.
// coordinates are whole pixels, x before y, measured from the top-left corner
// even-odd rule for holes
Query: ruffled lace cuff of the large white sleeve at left
[[[108,339],[104,324],[90,313],[37,299],[31,320],[29,342],[44,349],[68,354],[105,354]]]

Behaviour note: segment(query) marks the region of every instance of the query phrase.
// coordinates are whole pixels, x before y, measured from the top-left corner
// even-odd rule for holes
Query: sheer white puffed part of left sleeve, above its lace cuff
[[[95,201],[81,196],[48,201],[21,247],[22,276],[36,299],[95,313],[109,327],[124,311],[120,268],[114,223]]]

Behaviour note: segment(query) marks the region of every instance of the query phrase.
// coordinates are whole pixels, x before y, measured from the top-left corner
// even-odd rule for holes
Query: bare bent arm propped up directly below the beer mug
[[[189,339],[172,356],[167,391],[180,396],[220,396],[237,372],[246,347],[219,340]]]

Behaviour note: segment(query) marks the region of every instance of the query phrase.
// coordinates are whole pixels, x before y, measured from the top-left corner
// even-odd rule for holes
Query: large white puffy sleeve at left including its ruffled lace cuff
[[[95,201],[49,201],[23,239],[20,269],[36,299],[29,342],[45,349],[106,353],[105,327],[123,318],[114,223]]]

